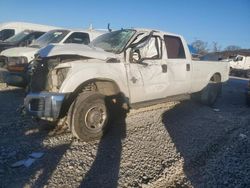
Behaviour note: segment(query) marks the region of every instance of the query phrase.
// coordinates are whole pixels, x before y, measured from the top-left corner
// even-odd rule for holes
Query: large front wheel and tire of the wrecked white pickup
[[[97,92],[81,93],[72,103],[68,118],[75,137],[83,141],[100,139],[109,119],[105,96]]]

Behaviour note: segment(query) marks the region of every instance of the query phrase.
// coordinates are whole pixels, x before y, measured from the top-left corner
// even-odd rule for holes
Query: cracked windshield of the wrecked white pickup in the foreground
[[[106,52],[120,53],[134,34],[135,30],[132,29],[113,31],[97,37],[89,45]]]

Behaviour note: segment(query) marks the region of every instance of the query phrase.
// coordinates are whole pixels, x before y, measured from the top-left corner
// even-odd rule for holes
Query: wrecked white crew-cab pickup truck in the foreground
[[[212,105],[229,78],[228,62],[193,61],[183,37],[172,33],[123,29],[71,46],[40,51],[24,104],[32,116],[67,119],[82,140],[100,138],[121,108],[191,94]]]

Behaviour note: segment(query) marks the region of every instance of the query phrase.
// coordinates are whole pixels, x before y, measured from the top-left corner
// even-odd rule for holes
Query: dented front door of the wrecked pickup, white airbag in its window
[[[165,98],[169,87],[166,62],[162,60],[162,40],[152,36],[138,43],[127,64],[131,103]]]

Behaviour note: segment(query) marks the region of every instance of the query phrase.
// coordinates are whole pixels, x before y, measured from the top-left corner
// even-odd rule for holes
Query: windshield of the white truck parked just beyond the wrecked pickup
[[[42,48],[47,46],[50,43],[59,43],[61,42],[64,37],[69,33],[68,30],[52,30],[44,35],[42,35],[40,38],[35,40],[30,47],[38,47]]]

